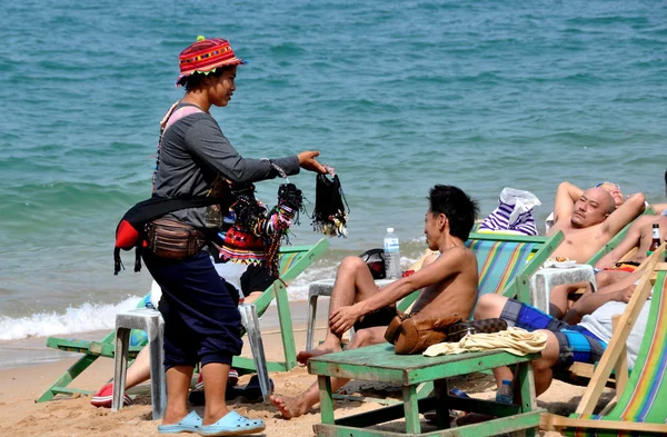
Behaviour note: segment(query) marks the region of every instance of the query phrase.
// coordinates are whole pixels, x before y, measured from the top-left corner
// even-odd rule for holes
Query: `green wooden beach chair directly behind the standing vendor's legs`
[[[286,371],[297,365],[295,335],[291,325],[291,312],[287,297],[287,286],[295,280],[306,268],[308,268],[316,259],[322,256],[328,249],[329,241],[320,239],[312,246],[286,246],[280,248],[280,279],[277,279],[265,292],[255,301],[257,312],[261,316],[273,299],[278,307],[278,316],[280,321],[280,332],[283,346],[285,361],[273,362],[268,361],[267,368],[269,371]],[[73,395],[76,393],[90,395],[92,391],[71,388],[69,385],[83,370],[86,370],[99,357],[115,358],[115,338],[116,331],[109,332],[100,341],[86,341],[76,339],[63,339],[49,337],[47,346],[63,351],[83,354],[69,369],[64,371],[36,401],[42,403],[52,399],[56,395]],[[146,342],[138,346],[131,346],[129,349],[130,358],[135,358],[141,347]],[[252,358],[235,357],[232,366],[240,374],[256,371]]]

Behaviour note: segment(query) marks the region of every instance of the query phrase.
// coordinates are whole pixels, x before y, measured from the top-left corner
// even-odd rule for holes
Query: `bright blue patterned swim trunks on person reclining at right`
[[[547,329],[556,336],[560,352],[557,367],[568,368],[573,362],[596,364],[603,357],[607,344],[579,325],[568,325],[529,305],[508,299],[500,318],[508,326],[534,331]]]

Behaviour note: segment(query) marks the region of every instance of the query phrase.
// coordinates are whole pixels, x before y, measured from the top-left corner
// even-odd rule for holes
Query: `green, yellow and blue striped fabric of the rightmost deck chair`
[[[613,429],[567,428],[569,436],[665,436],[667,435],[667,272],[658,274],[649,321],[635,367],[618,404],[605,416],[571,415],[576,419],[614,421]],[[625,424],[633,424],[630,430]],[[641,429],[640,431],[638,429]]]

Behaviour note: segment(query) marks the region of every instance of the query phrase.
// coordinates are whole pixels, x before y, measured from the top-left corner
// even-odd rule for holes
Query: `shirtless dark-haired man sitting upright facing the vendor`
[[[421,289],[412,312],[439,317],[458,314],[469,317],[477,300],[477,259],[465,241],[475,224],[478,208],[457,187],[437,185],[429,193],[429,209],[424,234],[428,248],[440,252],[429,265],[414,275],[382,289],[375,285],[370,270],[359,257],[347,257],[340,264],[329,304],[329,331],[316,349],[302,351],[297,359],[340,351],[340,338],[352,326],[356,329],[348,349],[385,341],[387,325],[396,315],[396,302]],[[336,391],[349,379],[331,378]],[[271,396],[282,417],[306,414],[319,401],[317,383],[297,397]]]

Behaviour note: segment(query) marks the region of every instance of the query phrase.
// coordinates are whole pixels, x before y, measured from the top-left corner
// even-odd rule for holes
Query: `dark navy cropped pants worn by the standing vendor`
[[[162,288],[165,369],[231,364],[243,346],[241,316],[208,252],[175,260],[145,250],[143,261]]]

